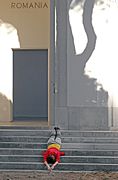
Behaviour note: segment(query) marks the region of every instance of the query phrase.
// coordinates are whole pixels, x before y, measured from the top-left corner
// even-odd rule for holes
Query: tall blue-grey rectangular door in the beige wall
[[[13,49],[13,120],[48,121],[48,49]]]

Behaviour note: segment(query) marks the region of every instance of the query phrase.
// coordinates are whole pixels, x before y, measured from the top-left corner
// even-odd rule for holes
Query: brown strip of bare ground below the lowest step
[[[0,180],[118,180],[118,173],[0,172]]]

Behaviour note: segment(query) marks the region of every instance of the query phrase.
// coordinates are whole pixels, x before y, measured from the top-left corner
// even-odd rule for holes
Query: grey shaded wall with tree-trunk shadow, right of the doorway
[[[55,81],[57,93],[55,96],[55,124],[64,129],[104,130],[108,129],[108,93],[101,89],[97,91],[96,79],[90,79],[84,74],[84,67],[96,42],[92,31],[92,2],[85,15],[85,26],[88,23],[89,40],[86,50],[80,56],[74,52],[73,36],[70,29],[68,11],[70,2],[56,1],[57,10],[57,43],[55,58]],[[86,4],[88,7],[88,4]],[[89,13],[89,16],[87,16]],[[90,14],[91,13],[91,14]],[[89,19],[87,19],[89,18]],[[104,103],[103,103],[104,102]]]

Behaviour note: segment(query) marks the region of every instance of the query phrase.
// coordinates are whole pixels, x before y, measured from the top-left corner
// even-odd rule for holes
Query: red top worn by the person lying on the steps
[[[47,161],[47,157],[48,157],[49,155],[54,155],[54,156],[56,157],[56,161],[60,162],[60,156],[64,156],[65,153],[59,151],[59,150],[56,149],[56,148],[49,148],[49,149],[47,149],[45,152],[43,152],[44,161]]]

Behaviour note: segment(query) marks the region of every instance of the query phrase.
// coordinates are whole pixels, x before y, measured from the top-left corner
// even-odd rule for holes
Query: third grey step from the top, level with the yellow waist
[[[30,142],[0,142],[0,148],[22,148],[22,149],[46,149],[46,143]],[[117,143],[62,143],[63,149],[79,150],[117,150]]]

